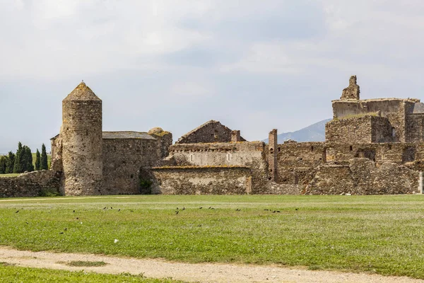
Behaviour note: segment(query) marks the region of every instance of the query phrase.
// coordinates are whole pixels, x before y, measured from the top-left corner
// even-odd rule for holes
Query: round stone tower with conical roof
[[[102,193],[102,100],[80,83],[62,101],[63,179],[65,195]]]

